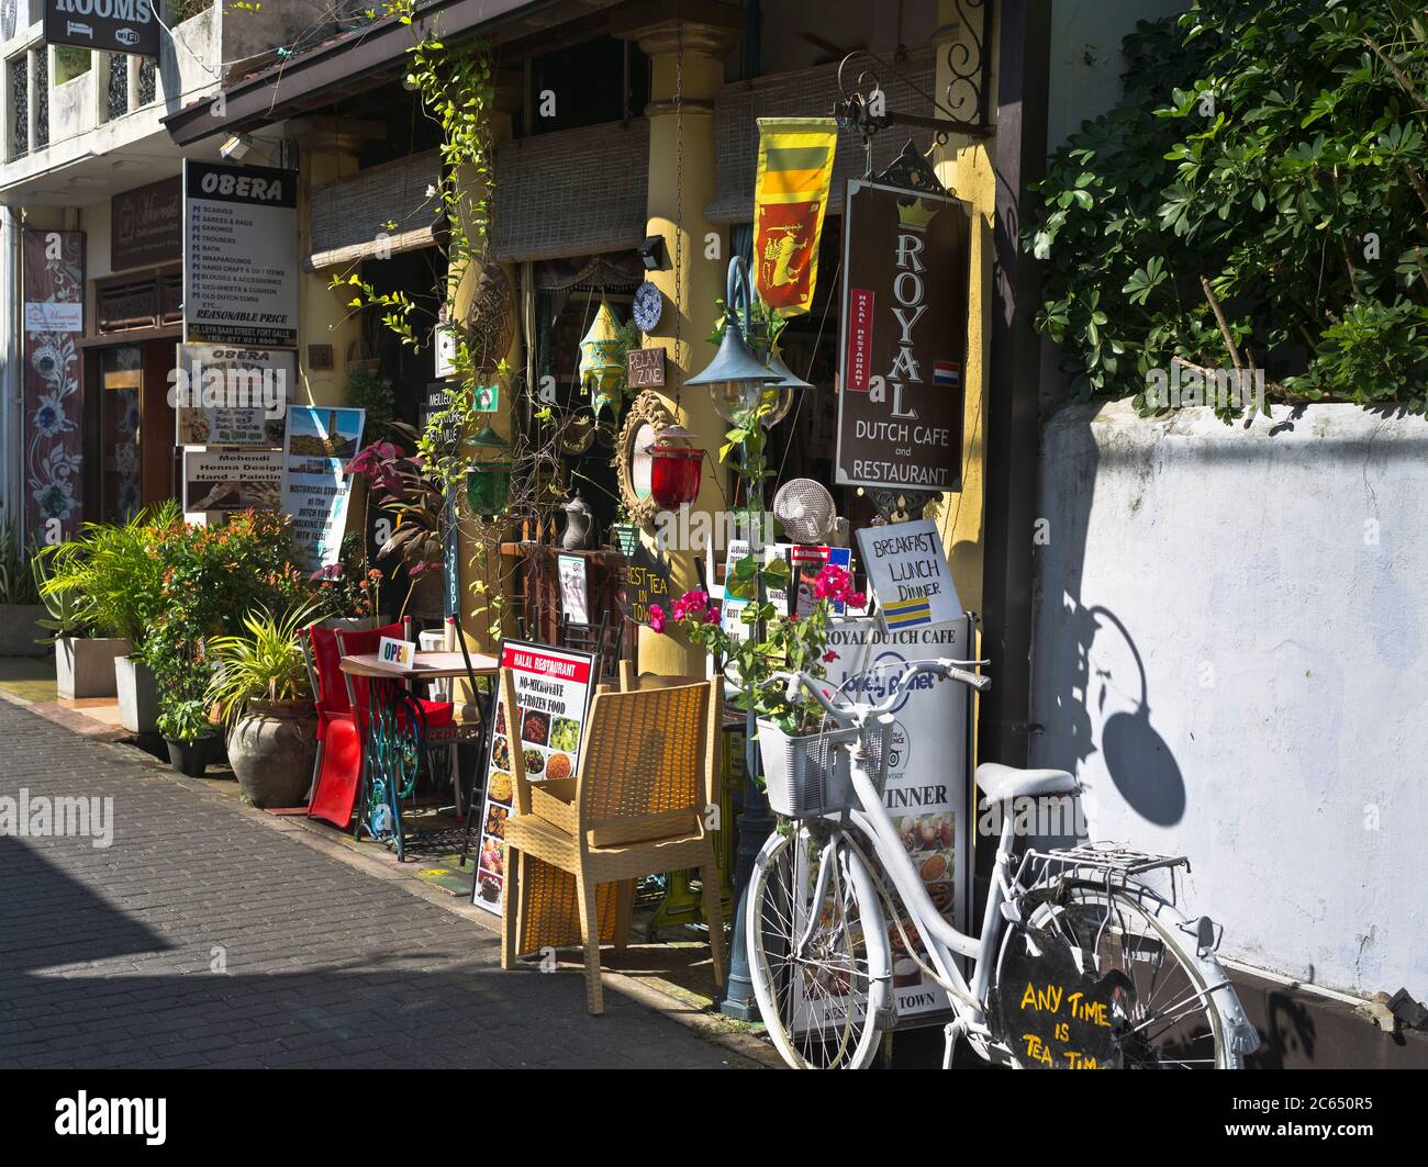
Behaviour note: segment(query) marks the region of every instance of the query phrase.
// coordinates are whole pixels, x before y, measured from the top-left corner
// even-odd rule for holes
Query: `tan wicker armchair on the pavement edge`
[[[501,700],[516,708],[516,683],[501,671]],[[521,750],[511,750],[516,800],[506,822],[506,897],[501,967],[545,937],[540,917],[560,916],[543,903],[553,887],[574,883],[585,999],[604,1011],[600,986],[601,917],[617,946],[631,880],[698,867],[710,924],[714,983],[724,984],[724,933],[714,842],[704,810],[718,805],[718,682],[617,692],[603,686],[590,708],[574,778],[528,782]],[[551,870],[554,869],[554,870]],[[564,879],[553,879],[565,873]],[[615,886],[610,886],[615,885]],[[605,895],[601,896],[601,892]],[[605,927],[607,934],[611,929]]]

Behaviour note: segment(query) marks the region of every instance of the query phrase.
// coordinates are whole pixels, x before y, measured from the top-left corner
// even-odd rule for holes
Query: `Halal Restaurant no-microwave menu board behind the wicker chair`
[[[481,845],[477,852],[471,903],[500,914],[506,886],[506,819],[516,797],[511,750],[526,760],[530,782],[574,778],[595,679],[598,658],[526,641],[501,643],[501,668],[511,671],[516,709],[497,690],[496,728],[486,766],[481,806]]]

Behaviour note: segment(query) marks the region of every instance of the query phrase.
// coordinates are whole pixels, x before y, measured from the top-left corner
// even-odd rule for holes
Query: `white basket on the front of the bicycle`
[[[773,722],[760,720],[758,750],[768,806],[788,819],[838,815],[858,806],[845,746],[860,735],[867,750],[868,778],[881,795],[887,782],[887,725],[874,723],[865,729],[830,729],[795,738]]]

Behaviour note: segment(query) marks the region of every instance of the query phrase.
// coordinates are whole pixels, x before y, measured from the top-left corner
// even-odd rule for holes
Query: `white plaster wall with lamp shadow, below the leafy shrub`
[[[1092,837],[1191,857],[1224,953],[1422,999],[1428,422],[1274,414],[1050,419],[1035,763]]]

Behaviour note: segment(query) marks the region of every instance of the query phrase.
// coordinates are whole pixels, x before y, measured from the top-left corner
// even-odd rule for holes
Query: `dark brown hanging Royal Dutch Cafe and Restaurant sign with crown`
[[[961,484],[970,220],[962,203],[848,183],[837,481]]]

